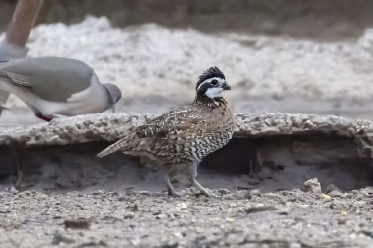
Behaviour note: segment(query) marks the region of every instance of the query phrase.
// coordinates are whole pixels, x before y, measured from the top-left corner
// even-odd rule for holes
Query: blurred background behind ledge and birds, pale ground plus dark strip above
[[[0,0],[0,33],[16,3]],[[372,120],[372,13],[369,0],[47,0],[28,57],[86,62],[122,90],[118,112],[191,103],[198,75],[216,65],[235,113]],[[6,106],[1,123],[43,122],[13,95]]]

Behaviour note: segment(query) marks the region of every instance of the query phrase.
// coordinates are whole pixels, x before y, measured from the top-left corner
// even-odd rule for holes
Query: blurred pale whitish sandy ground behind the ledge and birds
[[[62,56],[91,65],[123,94],[117,110],[162,113],[194,98],[211,65],[226,74],[235,112],[303,112],[372,119],[373,31],[340,42],[234,33],[204,34],[155,24],[111,28],[106,17],[32,30],[30,57]],[[35,122],[14,98],[1,122]],[[28,115],[24,115],[25,111]],[[16,113],[16,116],[13,114]]]

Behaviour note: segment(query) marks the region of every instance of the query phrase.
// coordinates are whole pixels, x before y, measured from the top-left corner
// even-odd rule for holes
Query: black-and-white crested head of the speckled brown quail
[[[207,96],[211,99],[220,97],[225,90],[230,90],[231,86],[226,83],[225,75],[217,67],[210,67],[201,76],[197,83],[197,94]]]

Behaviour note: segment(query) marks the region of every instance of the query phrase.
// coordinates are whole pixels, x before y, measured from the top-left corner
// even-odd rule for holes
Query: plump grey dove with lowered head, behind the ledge
[[[101,84],[93,68],[70,58],[40,57],[0,62],[0,88],[18,96],[40,119],[102,113],[120,90]]]

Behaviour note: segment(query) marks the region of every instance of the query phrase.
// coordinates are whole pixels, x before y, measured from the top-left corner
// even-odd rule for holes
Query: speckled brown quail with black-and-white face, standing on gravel
[[[197,181],[197,166],[202,158],[225,146],[232,138],[234,117],[228,102],[220,96],[230,90],[225,75],[210,67],[200,75],[193,104],[164,113],[133,133],[100,152],[103,157],[115,151],[146,156],[166,168],[169,194],[179,197],[173,189],[169,173],[186,165],[187,177],[205,196],[214,196]]]

